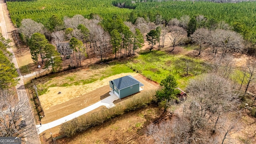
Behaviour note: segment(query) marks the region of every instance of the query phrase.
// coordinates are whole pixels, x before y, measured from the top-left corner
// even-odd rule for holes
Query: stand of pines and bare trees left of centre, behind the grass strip
[[[142,47],[144,39],[138,28],[130,22],[125,23],[117,15],[103,20],[97,14],[92,14],[89,20],[76,15],[64,17],[62,21],[54,14],[50,18],[51,29],[31,19],[24,19],[19,32],[30,48],[32,60],[39,65],[41,58],[45,68],[51,66],[56,72],[61,69],[58,52],[70,58],[71,67],[81,66],[81,60],[88,56],[88,49],[92,51],[91,54],[100,56],[101,60],[109,52],[113,52],[115,58],[133,55],[136,49]],[[54,48],[46,38],[57,46],[57,50],[53,52]],[[70,49],[69,53],[61,52],[63,49]],[[73,64],[73,60],[76,64]]]

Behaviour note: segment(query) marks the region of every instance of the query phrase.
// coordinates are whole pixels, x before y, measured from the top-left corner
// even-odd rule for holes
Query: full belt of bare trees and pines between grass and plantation
[[[72,53],[64,54],[64,56],[70,57],[69,65],[72,67],[81,66],[81,60],[90,55],[88,54],[89,48],[91,51],[93,48],[92,54],[100,56],[101,60],[104,56],[108,56],[109,52],[114,53],[115,58],[130,56],[134,54],[134,50],[142,47],[144,33],[147,33],[146,40],[151,45],[150,50],[153,49],[156,42],[160,46],[160,41],[162,41],[163,46],[166,32],[170,32],[168,38],[171,40],[172,50],[177,44],[183,42],[182,39],[186,32],[191,42],[198,44],[198,55],[206,44],[211,46],[215,54],[217,50],[222,50],[222,56],[225,56],[227,52],[243,52],[244,50],[242,36],[230,30],[228,24],[225,22],[217,23],[212,19],[208,20],[202,15],[192,18],[182,16],[180,20],[174,18],[168,22],[167,26],[156,26],[144,18],[137,18],[135,24],[132,24],[132,22],[123,22],[117,15],[102,19],[97,14],[92,14],[90,20],[76,15],[72,18],[64,17],[63,21],[56,15],[52,15],[50,24],[52,26],[50,30],[54,30],[53,32],[47,30],[40,23],[31,19],[24,19],[19,28],[20,36],[28,44],[35,32],[44,33],[46,38],[56,45],[69,43],[72,38],[72,40],[76,38],[77,42],[82,41],[83,45],[78,44],[77,46],[72,46],[69,43]],[[42,57],[41,61],[44,63],[44,55],[42,55],[40,48],[35,51],[30,44],[30,49],[34,62],[39,64],[37,58],[39,52]],[[73,64],[74,58],[76,64]]]

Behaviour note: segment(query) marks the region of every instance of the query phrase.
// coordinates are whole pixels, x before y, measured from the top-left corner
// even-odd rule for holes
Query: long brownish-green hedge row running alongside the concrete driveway
[[[65,122],[60,126],[60,134],[70,138],[75,136],[77,133],[83,132],[88,128],[100,125],[116,116],[120,116],[125,112],[130,112],[138,108],[144,108],[148,106],[153,100],[155,100],[155,92],[144,91],[140,92],[134,98],[125,100],[124,104],[118,104],[114,108],[101,109],[98,112],[94,112],[90,115],[83,115],[68,122]]]

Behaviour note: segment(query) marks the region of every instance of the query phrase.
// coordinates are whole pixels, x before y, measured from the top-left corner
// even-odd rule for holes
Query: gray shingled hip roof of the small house
[[[136,80],[136,79],[135,79],[134,77],[132,77],[131,75],[124,76],[124,77],[122,77],[122,78],[117,78],[117,79],[112,80],[112,81],[115,83],[116,87],[117,87],[119,90],[140,83],[138,80]],[[140,84],[141,84],[141,83],[140,83]],[[143,85],[143,84],[142,84],[142,85]]]

